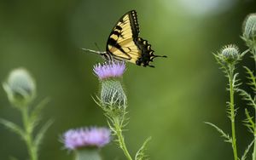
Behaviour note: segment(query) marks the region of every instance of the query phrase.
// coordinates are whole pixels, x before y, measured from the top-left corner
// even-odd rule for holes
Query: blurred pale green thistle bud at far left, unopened
[[[26,69],[18,68],[9,73],[6,82],[3,83],[9,101],[14,106],[26,106],[36,94],[36,84]]]

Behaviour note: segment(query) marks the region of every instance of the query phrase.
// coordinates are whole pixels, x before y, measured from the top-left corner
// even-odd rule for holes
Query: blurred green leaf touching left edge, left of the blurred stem
[[[17,124],[2,118],[0,118],[0,123],[2,123],[7,129],[12,131],[13,133],[20,135],[22,140],[25,140],[25,132]]]

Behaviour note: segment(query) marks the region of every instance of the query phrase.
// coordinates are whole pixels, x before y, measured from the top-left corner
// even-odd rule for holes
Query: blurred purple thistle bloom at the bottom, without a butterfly
[[[63,142],[68,150],[79,147],[102,147],[110,142],[110,130],[107,128],[81,128],[70,129],[63,134]]]

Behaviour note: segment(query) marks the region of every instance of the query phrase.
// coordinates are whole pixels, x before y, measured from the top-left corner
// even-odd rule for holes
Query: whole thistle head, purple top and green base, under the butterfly
[[[94,66],[93,71],[102,83],[101,102],[103,106],[125,106],[126,95],[120,81],[125,72],[125,62],[111,61]]]

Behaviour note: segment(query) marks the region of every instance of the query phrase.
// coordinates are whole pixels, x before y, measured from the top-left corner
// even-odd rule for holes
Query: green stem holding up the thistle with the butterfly
[[[124,151],[125,157],[127,157],[128,160],[132,160],[129,151],[127,150],[127,148],[125,146],[125,138],[122,134],[122,129],[120,128],[119,117],[115,117],[113,122],[114,122],[113,125],[115,128],[115,132],[116,132],[116,135],[119,140],[119,146]]]

